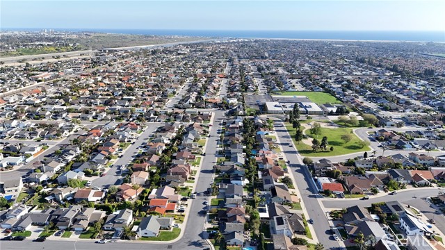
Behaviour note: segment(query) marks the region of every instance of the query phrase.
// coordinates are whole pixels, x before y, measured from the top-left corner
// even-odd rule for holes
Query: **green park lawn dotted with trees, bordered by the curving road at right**
[[[341,140],[341,135],[349,134],[352,129],[350,128],[321,128],[321,135],[310,135],[309,130],[306,132],[308,133],[309,137],[318,138],[319,141],[321,141],[321,138],[323,136],[327,136],[327,151],[312,151],[312,147],[300,142],[296,142],[295,140],[295,133],[296,128],[293,128],[292,125],[286,124],[287,131],[289,131],[289,134],[292,137],[293,143],[296,144],[296,147],[298,149],[298,152],[302,156],[312,156],[312,157],[321,157],[321,156],[341,156],[348,153],[357,153],[362,151],[369,151],[369,147],[364,147],[361,149],[357,142],[359,142],[359,138],[355,134],[351,134],[353,136],[353,139],[350,140],[350,142],[345,143],[343,140]],[[330,147],[334,147],[334,151],[330,151]]]

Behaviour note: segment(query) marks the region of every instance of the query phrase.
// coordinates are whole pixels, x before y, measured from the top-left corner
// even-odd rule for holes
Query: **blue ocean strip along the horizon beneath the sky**
[[[39,31],[42,28],[20,29]],[[49,29],[49,28],[48,28]],[[8,28],[3,28],[3,31]],[[19,30],[9,29],[9,30]],[[94,31],[138,35],[186,35],[212,38],[287,38],[319,40],[378,40],[445,42],[445,31],[210,31],[160,29],[55,28],[56,31]]]

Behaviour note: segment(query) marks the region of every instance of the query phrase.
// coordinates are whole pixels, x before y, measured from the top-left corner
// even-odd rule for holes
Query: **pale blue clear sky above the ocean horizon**
[[[445,31],[444,0],[0,0],[0,28]]]

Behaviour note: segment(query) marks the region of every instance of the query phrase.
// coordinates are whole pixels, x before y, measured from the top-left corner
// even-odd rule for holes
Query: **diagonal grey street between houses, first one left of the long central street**
[[[149,135],[152,135],[156,128],[161,126],[162,123],[149,123],[145,124],[147,128],[141,133],[134,142],[134,144],[130,144],[129,147],[124,151],[122,158],[118,158],[113,165],[111,165],[110,169],[106,172],[105,176],[96,178],[92,181],[92,187],[99,188],[108,188],[111,185],[120,185],[122,183],[121,172],[118,170],[118,165],[127,165],[133,160],[133,156],[135,156],[140,149],[137,149],[143,142],[146,142]]]

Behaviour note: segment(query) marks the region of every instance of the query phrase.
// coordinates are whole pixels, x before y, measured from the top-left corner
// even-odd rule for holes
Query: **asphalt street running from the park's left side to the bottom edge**
[[[325,249],[335,249],[340,247],[339,242],[332,237],[332,233],[330,233],[330,224],[327,217],[325,217],[323,208],[321,208],[320,203],[318,203],[318,199],[321,198],[319,198],[318,190],[312,181],[309,169],[304,167],[300,158],[298,158],[298,152],[293,147],[291,137],[289,133],[287,133],[284,124],[282,122],[274,122],[274,125],[277,137],[282,144],[283,153],[285,154],[286,159],[291,163],[289,166],[293,177],[297,182],[298,190],[300,190],[301,199],[307,208],[307,213],[310,217],[307,219],[314,220],[312,226],[316,228],[316,231],[312,233],[316,234],[318,241],[325,246]]]

